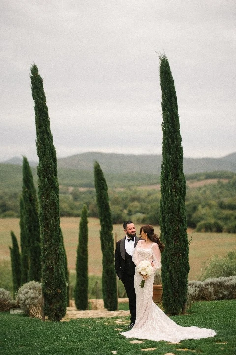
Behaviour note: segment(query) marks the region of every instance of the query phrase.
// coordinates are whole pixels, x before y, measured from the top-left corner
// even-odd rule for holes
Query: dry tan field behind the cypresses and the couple
[[[75,269],[76,249],[78,245],[80,218],[61,218],[61,228],[64,236],[64,244],[68,259],[68,267],[71,272]],[[100,223],[96,218],[89,218],[89,274],[101,275],[102,261],[101,261],[101,246],[100,246]],[[136,224],[137,234],[140,225]],[[20,227],[18,218],[4,218],[0,219],[0,262],[3,260],[10,260],[9,246],[11,245],[10,231],[13,231],[18,241],[20,239]],[[159,234],[160,228],[156,227],[155,231]],[[122,225],[113,226],[114,239],[123,238],[124,233]],[[188,239],[192,241],[189,246],[189,262],[190,273],[189,280],[196,280],[201,275],[203,263],[211,259],[212,256],[219,257],[227,254],[228,251],[236,250],[236,234],[230,233],[196,233],[188,231]]]

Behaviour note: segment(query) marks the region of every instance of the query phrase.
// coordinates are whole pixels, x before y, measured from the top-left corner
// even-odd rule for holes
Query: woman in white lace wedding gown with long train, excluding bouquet
[[[154,341],[168,341],[178,343],[184,339],[208,338],[216,335],[211,329],[196,326],[182,327],[165,315],[152,301],[152,286],[155,269],[161,267],[161,251],[164,245],[154,233],[151,225],[146,224],[140,228],[140,240],[134,249],[133,262],[136,265],[134,286],[136,293],[136,322],[129,331],[120,333],[126,338],[148,339]],[[153,272],[150,276],[142,276],[138,272],[140,262],[148,260]],[[144,281],[142,281],[144,280]],[[142,283],[144,282],[144,287]],[[141,287],[142,288],[141,288]]]

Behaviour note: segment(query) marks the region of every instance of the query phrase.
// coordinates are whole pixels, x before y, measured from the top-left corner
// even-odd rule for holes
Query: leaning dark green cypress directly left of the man
[[[114,267],[114,241],[112,215],[109,205],[107,183],[98,162],[94,163],[94,178],[98,214],[100,219],[100,240],[102,249],[102,293],[104,307],[117,310],[117,283]]]

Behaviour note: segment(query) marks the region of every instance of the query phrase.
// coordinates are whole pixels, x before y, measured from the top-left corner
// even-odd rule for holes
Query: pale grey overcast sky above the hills
[[[37,159],[33,63],[58,158],[161,154],[163,52],[184,156],[236,151],[234,0],[1,0],[0,13],[0,161]]]

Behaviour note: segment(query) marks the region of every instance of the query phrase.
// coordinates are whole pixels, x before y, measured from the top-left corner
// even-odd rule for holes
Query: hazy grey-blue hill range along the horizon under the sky
[[[105,173],[160,175],[162,156],[88,152],[59,158],[58,168],[92,171],[94,161],[98,161]],[[22,159],[14,157],[1,164],[20,165]],[[35,166],[37,162],[29,162],[29,164]],[[222,158],[184,158],[183,168],[184,174],[212,171],[236,172],[236,152]]]

